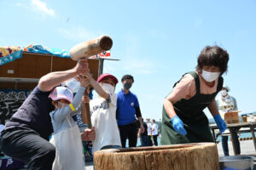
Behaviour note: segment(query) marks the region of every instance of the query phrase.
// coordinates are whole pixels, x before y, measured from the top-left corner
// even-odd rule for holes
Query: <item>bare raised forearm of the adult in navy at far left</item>
[[[61,84],[61,82],[65,82],[68,79],[77,75],[78,73],[74,69],[68,71],[51,72],[40,78],[38,82],[38,88],[43,92],[48,92],[52,88],[55,88],[55,86]]]

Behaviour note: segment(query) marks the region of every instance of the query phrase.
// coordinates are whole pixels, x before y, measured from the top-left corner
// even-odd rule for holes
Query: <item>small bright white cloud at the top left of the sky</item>
[[[42,14],[43,16],[49,15],[54,17],[55,16],[55,10],[52,8],[48,8],[47,4],[40,1],[40,0],[31,0],[32,8]]]

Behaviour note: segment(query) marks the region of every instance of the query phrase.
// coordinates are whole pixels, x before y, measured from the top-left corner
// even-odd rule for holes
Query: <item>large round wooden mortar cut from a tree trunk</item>
[[[214,143],[172,144],[156,147],[98,150],[96,170],[218,170]]]

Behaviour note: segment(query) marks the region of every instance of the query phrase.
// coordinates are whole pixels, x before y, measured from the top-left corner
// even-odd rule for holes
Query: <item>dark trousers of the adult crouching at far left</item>
[[[55,147],[29,129],[8,129],[0,136],[0,148],[15,159],[24,161],[30,170],[51,170]]]

